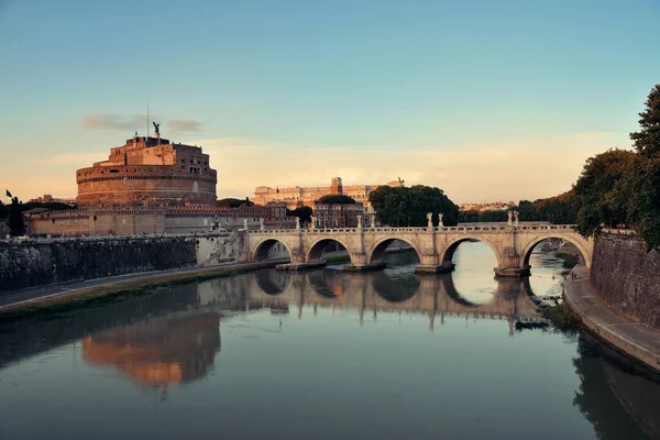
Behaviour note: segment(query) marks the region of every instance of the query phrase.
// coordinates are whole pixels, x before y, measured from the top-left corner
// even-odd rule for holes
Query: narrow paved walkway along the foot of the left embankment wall
[[[273,262],[275,264],[276,262]],[[118,276],[109,276],[106,278],[86,279],[80,282],[73,282],[66,284],[56,284],[44,287],[35,287],[30,289],[11,290],[0,293],[0,310],[3,308],[18,306],[20,304],[34,301],[37,299],[44,299],[50,297],[56,297],[64,294],[75,294],[79,290],[86,290],[90,287],[110,286],[113,284],[127,283],[132,280],[146,279],[152,277],[158,277],[168,274],[185,274],[185,273],[204,273],[208,271],[216,271],[219,268],[231,268],[250,266],[254,263],[230,263],[230,264],[218,264],[206,267],[187,267],[168,271],[153,271],[153,272],[141,272],[136,274],[127,274]]]

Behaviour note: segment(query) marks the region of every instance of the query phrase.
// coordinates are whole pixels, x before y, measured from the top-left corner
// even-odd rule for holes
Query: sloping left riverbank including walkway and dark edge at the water
[[[59,294],[47,295],[16,304],[6,305],[0,308],[0,324],[24,322],[30,319],[56,318],[58,314],[78,310],[87,307],[99,307],[117,302],[170,286],[201,282],[206,279],[220,278],[242,274],[258,268],[273,267],[285,261],[272,261],[264,263],[241,263],[212,267],[195,267],[186,271],[145,274],[140,278],[132,279],[108,279],[91,287],[82,283],[68,286],[67,290]],[[95,280],[98,283],[99,280]],[[101,280],[102,282],[102,280]],[[80,285],[82,285],[80,287]]]

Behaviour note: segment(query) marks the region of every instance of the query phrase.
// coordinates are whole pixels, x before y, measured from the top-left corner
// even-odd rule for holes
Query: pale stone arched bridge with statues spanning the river
[[[464,241],[486,243],[497,257],[498,276],[529,275],[529,256],[534,248],[547,239],[562,239],[574,244],[587,267],[593,256],[593,240],[584,239],[571,224],[486,223],[458,227],[389,228],[362,227],[341,229],[245,230],[245,253],[249,261],[267,260],[277,244],[290,254],[283,270],[300,270],[324,264],[323,250],[330,242],[343,245],[351,258],[348,270],[366,271],[383,267],[383,254],[389,244],[400,240],[409,244],[419,257],[417,272],[450,272],[452,256]]]

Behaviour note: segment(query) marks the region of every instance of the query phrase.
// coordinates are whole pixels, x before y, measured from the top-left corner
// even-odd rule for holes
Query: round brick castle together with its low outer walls
[[[34,235],[138,235],[287,227],[286,205],[216,206],[217,172],[200,146],[154,136],[127,140],[108,161],[76,172],[78,209],[28,213]],[[290,223],[290,224],[289,224]]]

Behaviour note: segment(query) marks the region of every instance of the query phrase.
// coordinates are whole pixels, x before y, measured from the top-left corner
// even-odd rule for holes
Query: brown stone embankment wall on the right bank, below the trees
[[[630,233],[604,232],[595,241],[591,282],[616,310],[660,329],[660,252]]]

